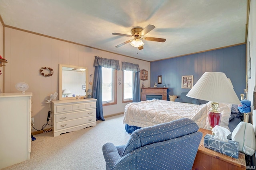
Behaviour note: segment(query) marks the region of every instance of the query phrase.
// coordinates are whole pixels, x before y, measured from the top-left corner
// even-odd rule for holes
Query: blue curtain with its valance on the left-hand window
[[[102,107],[102,66],[107,68],[114,68],[120,70],[119,61],[114,59],[106,59],[95,56],[94,64],[94,81],[93,81],[93,93],[92,98],[97,99],[96,102],[96,117],[97,120],[105,120],[103,116]]]

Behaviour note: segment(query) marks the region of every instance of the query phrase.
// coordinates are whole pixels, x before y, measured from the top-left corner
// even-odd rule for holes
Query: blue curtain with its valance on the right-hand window
[[[132,102],[140,102],[140,67],[138,64],[122,62],[122,70],[135,71]]]

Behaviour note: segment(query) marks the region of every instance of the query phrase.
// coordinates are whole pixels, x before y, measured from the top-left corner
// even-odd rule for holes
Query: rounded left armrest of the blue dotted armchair
[[[121,159],[121,156],[113,143],[106,143],[103,145],[102,151],[106,160],[106,166],[110,169]]]

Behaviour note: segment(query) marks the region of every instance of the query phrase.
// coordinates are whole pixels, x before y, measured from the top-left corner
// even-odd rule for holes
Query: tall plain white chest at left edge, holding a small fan
[[[30,159],[32,93],[0,94],[0,169]]]

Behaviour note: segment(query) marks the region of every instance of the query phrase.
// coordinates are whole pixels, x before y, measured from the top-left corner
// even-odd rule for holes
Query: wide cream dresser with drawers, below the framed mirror
[[[97,99],[52,101],[53,135],[96,126]]]

